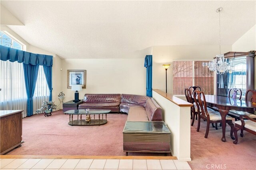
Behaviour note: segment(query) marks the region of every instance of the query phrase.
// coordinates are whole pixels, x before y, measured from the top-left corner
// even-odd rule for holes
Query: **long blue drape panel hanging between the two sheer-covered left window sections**
[[[23,63],[27,100],[27,115],[33,115],[33,95],[36,88],[36,80],[38,75],[39,65],[25,64]]]

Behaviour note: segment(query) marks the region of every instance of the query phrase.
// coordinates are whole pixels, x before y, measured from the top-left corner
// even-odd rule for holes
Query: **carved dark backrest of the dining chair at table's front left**
[[[196,107],[199,108],[198,110],[201,111],[201,115],[205,116],[207,119],[210,120],[210,116],[209,116],[209,113],[207,111],[206,102],[204,102],[204,101],[206,101],[205,96],[204,96],[204,92],[199,91],[199,90],[195,90],[193,92],[193,96],[194,96],[194,99],[195,99],[194,101],[196,103]],[[198,113],[198,114],[200,114],[200,113]]]

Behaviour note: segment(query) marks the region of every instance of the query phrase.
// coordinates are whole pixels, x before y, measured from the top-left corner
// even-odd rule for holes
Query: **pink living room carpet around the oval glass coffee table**
[[[74,116],[74,119],[77,119]],[[12,155],[85,155],[124,156],[123,128],[127,114],[110,113],[108,123],[100,126],[70,126],[69,115],[62,111],[24,118],[22,147]],[[129,152],[129,156],[164,156],[162,153]]]

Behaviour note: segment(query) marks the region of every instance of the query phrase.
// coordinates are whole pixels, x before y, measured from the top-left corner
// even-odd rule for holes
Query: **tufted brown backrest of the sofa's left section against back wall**
[[[85,94],[84,95],[84,103],[116,103],[116,102],[120,104],[121,94]]]

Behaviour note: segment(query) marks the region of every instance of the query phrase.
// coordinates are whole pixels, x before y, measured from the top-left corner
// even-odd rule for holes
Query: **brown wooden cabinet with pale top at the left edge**
[[[0,154],[5,154],[24,143],[22,112],[22,110],[0,111]]]

